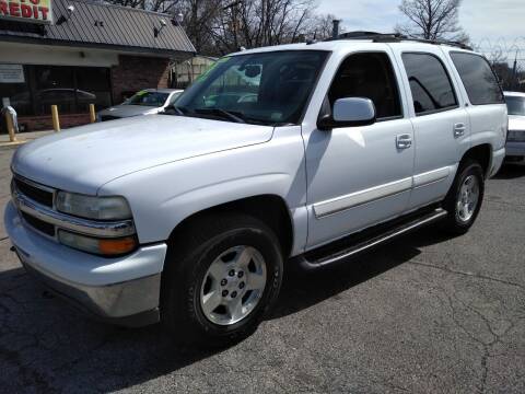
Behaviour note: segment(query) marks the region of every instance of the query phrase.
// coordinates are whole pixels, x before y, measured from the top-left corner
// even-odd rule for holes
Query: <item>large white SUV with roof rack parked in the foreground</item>
[[[392,35],[241,51],[164,115],[20,148],[5,225],[26,269],[106,320],[184,340],[255,329],[283,266],[441,220],[466,232],[505,157],[487,60]]]

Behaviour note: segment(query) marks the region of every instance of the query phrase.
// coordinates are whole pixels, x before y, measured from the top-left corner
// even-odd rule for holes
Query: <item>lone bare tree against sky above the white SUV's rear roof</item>
[[[424,39],[450,39],[466,43],[468,35],[459,26],[462,0],[402,0],[399,10],[408,22],[396,31]]]

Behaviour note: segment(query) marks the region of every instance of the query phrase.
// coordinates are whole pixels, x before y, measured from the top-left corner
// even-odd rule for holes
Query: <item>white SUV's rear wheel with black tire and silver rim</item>
[[[443,222],[444,230],[455,235],[468,232],[481,209],[483,195],[481,165],[474,160],[462,163],[443,201],[443,208],[448,212]]]

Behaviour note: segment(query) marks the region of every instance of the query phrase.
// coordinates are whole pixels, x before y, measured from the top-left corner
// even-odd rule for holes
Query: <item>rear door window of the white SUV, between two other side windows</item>
[[[417,115],[457,107],[451,79],[439,58],[430,54],[404,54],[402,62]]]

